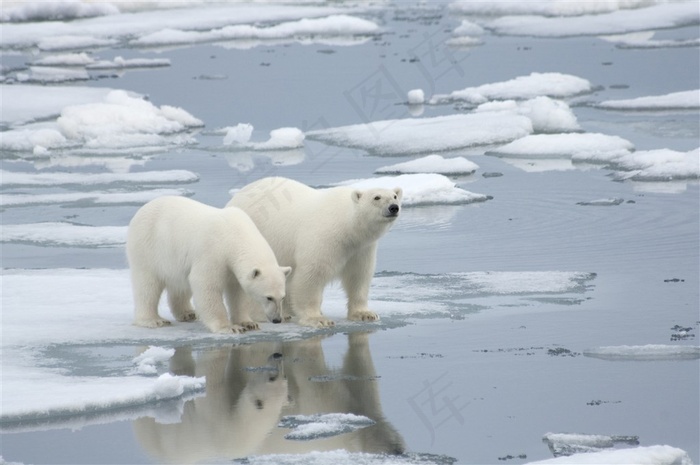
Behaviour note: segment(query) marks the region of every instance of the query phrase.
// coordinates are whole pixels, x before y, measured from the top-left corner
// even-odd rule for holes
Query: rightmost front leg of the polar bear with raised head
[[[348,296],[348,320],[379,320],[379,315],[371,311],[367,305],[369,286],[374,276],[376,252],[376,243],[358,251],[348,260],[341,272],[343,288]]]

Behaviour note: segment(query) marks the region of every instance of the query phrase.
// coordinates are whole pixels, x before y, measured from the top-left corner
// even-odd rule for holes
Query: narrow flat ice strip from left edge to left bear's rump
[[[82,226],[72,223],[0,225],[4,243],[28,243],[44,247],[118,247],[126,243],[126,226]]]

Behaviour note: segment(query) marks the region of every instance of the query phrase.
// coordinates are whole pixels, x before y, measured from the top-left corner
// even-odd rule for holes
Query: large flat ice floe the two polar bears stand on
[[[523,296],[585,292],[592,279],[590,273],[554,271],[445,275],[380,273],[372,282],[370,305],[381,314],[382,320],[372,327],[389,328],[400,324],[404,318],[449,318],[455,312],[474,312],[468,303],[470,299],[488,295],[511,299],[510,307],[513,307],[512,300]],[[49,293],[50,290],[57,292]],[[158,370],[158,363],[165,359],[164,350],[169,350],[175,342],[181,345],[187,341],[232,339],[235,342],[284,341],[318,334],[316,330],[293,323],[262,323],[260,331],[234,336],[210,333],[196,322],[175,322],[161,330],[133,326],[131,283],[126,269],[3,270],[0,293],[3,304],[0,420],[3,428],[9,427],[6,425],[10,420],[119,410],[165,398],[166,392],[172,396],[187,395],[203,386],[203,382],[192,378],[135,375],[134,365],[138,366],[138,362],[134,362],[134,357],[138,353],[110,367],[110,376],[74,375],[71,370],[75,369],[75,364],[60,359],[59,354],[78,350],[86,344],[160,347],[163,350],[154,349],[151,354]],[[460,303],[462,299],[466,302]],[[160,311],[164,316],[169,315],[165,302],[161,302]],[[347,310],[341,289],[331,288],[326,292],[324,313],[336,319],[337,331],[367,329],[366,325],[358,326],[345,320]],[[37,321],[41,324],[37,325]]]

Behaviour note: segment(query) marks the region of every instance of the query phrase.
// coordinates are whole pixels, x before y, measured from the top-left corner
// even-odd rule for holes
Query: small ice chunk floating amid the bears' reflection
[[[293,428],[285,439],[309,441],[322,439],[372,426],[371,418],[352,413],[326,413],[316,415],[288,415],[282,417],[280,428]]]

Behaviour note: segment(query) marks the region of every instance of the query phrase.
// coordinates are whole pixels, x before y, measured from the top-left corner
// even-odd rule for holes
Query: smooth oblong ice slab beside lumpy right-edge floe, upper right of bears
[[[490,153],[526,158],[585,157],[586,154],[619,157],[633,149],[630,141],[606,134],[534,134],[514,140]]]

